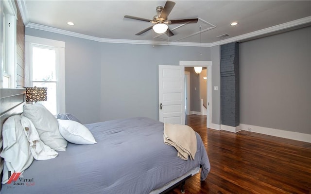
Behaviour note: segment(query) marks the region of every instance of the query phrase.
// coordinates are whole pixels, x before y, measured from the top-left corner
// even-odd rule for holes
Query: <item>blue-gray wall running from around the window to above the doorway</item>
[[[32,28],[64,41],[66,112],[82,123],[145,116],[158,120],[158,65],[210,61],[210,48],[100,43]]]

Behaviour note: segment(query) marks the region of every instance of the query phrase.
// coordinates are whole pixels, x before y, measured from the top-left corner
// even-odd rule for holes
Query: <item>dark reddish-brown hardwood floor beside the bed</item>
[[[186,194],[311,193],[311,143],[207,129],[203,115],[187,116],[186,124],[201,135],[211,165],[205,181],[200,174],[186,181]]]

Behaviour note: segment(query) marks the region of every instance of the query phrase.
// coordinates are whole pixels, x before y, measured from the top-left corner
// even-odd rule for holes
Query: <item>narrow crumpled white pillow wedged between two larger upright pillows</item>
[[[20,123],[23,126],[24,132],[30,144],[30,151],[35,159],[45,160],[53,159],[58,153],[51,149],[49,146],[44,144],[39,137],[34,124],[26,117],[21,117]]]

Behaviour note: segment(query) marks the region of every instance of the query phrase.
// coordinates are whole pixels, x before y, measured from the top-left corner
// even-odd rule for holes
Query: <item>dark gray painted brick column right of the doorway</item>
[[[239,43],[221,45],[221,123],[240,125]],[[234,131],[235,132],[235,131]]]

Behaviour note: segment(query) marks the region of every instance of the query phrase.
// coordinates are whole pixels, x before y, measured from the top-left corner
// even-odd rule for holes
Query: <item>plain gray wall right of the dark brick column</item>
[[[311,134],[311,27],[240,44],[240,123]]]

